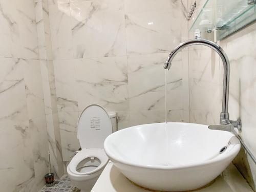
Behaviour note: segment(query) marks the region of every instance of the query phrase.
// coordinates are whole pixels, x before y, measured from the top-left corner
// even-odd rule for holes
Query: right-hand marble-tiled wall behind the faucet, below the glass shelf
[[[194,18],[204,5],[197,0]],[[193,21],[189,22],[189,26]],[[256,24],[234,33],[218,42],[230,61],[229,113],[230,119],[242,120],[241,138],[256,156],[255,143],[255,38]],[[204,34],[203,34],[204,35]],[[193,32],[189,38],[194,38]],[[204,37],[214,40],[213,33]],[[189,105],[190,122],[218,124],[222,105],[223,65],[210,48],[189,48]],[[233,161],[250,186],[255,190],[256,165],[242,149]]]

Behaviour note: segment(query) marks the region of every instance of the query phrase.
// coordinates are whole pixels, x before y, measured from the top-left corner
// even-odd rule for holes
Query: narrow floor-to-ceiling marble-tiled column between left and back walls
[[[35,15],[51,171],[55,178],[60,178],[65,168],[61,151],[48,0],[35,1]]]

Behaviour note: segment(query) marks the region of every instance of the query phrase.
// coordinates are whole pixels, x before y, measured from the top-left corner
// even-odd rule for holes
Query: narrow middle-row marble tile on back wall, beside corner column
[[[78,111],[74,59],[54,60],[53,62],[58,111]]]

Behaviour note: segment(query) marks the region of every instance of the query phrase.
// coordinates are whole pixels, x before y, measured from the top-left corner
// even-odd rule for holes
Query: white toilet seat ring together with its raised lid
[[[97,104],[87,106],[77,122],[77,138],[82,150],[71,159],[70,172],[79,177],[92,175],[105,167],[109,158],[103,150],[103,142],[111,133],[112,123],[108,113]]]

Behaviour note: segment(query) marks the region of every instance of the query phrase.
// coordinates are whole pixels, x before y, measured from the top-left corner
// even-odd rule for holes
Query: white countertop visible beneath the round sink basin
[[[124,177],[119,170],[109,162],[104,168],[91,192],[146,192],[149,190],[134,185]],[[152,190],[151,190],[152,191]],[[214,183],[200,192],[253,192],[237,168],[230,164],[226,170],[215,179]]]

